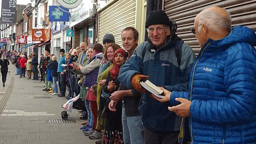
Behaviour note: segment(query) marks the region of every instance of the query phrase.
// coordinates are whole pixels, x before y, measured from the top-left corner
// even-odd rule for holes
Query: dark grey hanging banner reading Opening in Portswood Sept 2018
[[[17,0],[2,0],[1,23],[15,24]]]

